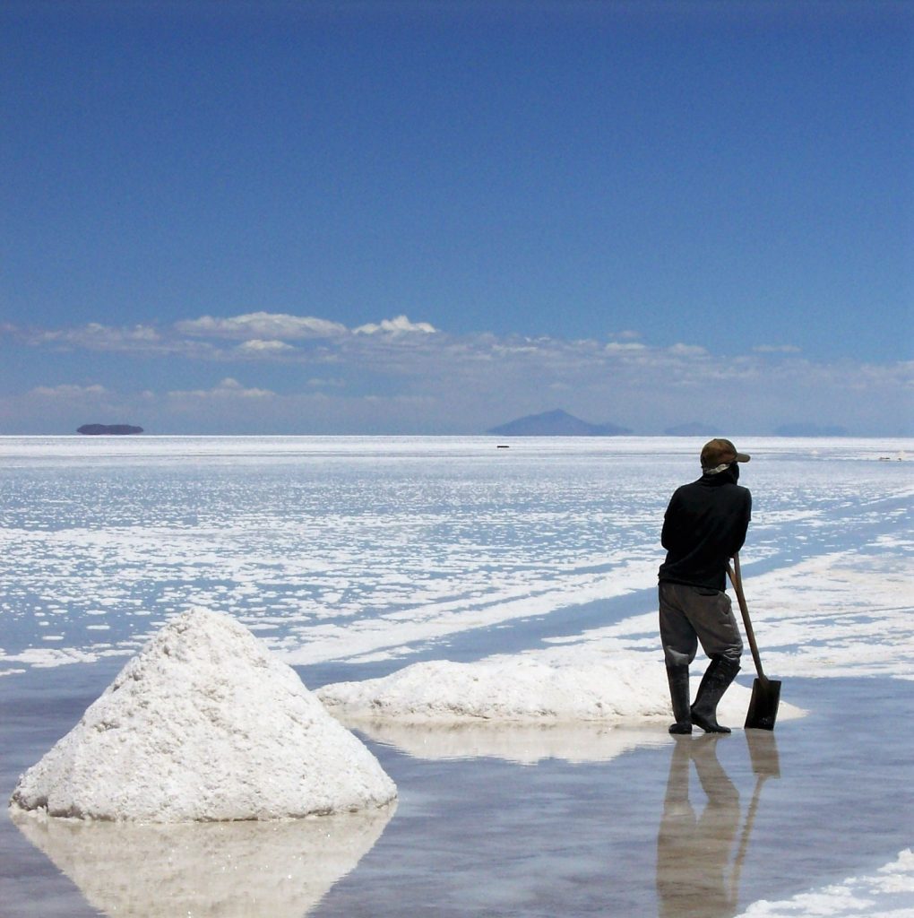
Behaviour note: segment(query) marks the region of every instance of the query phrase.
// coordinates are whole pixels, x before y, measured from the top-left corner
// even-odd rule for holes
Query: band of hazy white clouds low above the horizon
[[[271,325],[281,334],[253,333]],[[191,328],[240,336],[240,341],[181,337],[179,329]],[[295,346],[283,337],[313,337],[320,328],[340,333]],[[724,415],[736,425],[731,430],[755,433],[807,419],[860,434],[914,430],[910,363],[817,363],[790,345],[762,345],[715,359],[694,344],[657,347],[636,341],[635,332],[615,333],[606,343],[491,332],[457,337],[406,316],[356,331],[323,319],[268,313],[179,322],[161,334],[148,326],[110,329],[97,323],[49,331],[41,341],[48,349],[69,342],[90,352],[104,347],[162,357],[156,372],[173,391],[131,394],[124,390],[129,377],[123,376],[122,364],[110,368],[119,375],[106,376],[105,362],[93,361],[87,365],[98,386],[7,392],[0,397],[0,420],[6,430],[40,432],[50,429],[51,420],[69,430],[75,407],[93,414],[104,409],[157,431],[472,432],[562,407],[638,432]],[[23,340],[39,343],[34,335]],[[233,368],[222,371],[226,378],[217,385],[196,388],[198,382],[187,382],[184,374],[201,361]],[[270,361],[282,363],[283,373],[258,375],[267,372]],[[240,374],[245,385],[236,378]],[[277,391],[264,386],[267,378],[276,380]],[[376,409],[365,409],[369,404]]]

